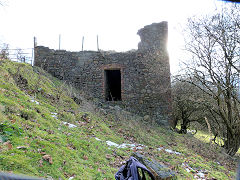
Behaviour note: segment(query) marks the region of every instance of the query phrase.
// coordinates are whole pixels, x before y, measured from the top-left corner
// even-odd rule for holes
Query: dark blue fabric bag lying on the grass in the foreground
[[[143,178],[140,177],[138,169],[141,169],[142,172],[147,172],[152,180],[154,180],[154,176],[149,171],[146,166],[141,164],[136,158],[130,157],[127,161],[126,165],[123,165],[118,172],[115,174],[116,180],[145,180],[145,176]]]

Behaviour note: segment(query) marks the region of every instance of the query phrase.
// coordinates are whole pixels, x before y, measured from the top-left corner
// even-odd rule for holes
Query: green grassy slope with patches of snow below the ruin
[[[54,179],[114,179],[136,150],[109,148],[105,141],[110,140],[146,145],[137,151],[168,165],[178,179],[192,179],[198,170],[204,170],[207,178],[232,179],[235,175],[232,161],[192,136],[151,127],[124,114],[116,120],[114,114],[83,112],[84,103],[76,104],[69,88],[41,69],[0,63],[0,138],[5,141],[0,143],[1,171]],[[78,127],[69,128],[63,121]],[[159,147],[181,155],[157,151]],[[194,170],[188,173],[183,163]]]

